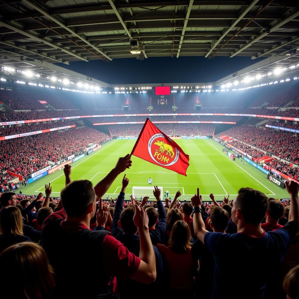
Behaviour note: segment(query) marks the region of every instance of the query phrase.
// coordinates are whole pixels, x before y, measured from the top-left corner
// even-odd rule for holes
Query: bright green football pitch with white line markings
[[[227,194],[234,199],[240,187],[251,187],[258,189],[269,197],[288,198],[286,190],[278,187],[267,180],[266,174],[256,169],[249,163],[245,165],[241,160],[232,161],[222,152],[222,145],[213,139],[188,139],[176,140],[184,152],[190,155],[190,166],[187,169],[187,176],[179,175],[173,171],[151,164],[140,158],[132,156],[132,167],[127,169],[126,177],[130,183],[126,189],[125,199],[132,194],[132,187],[147,187],[148,179],[153,179],[152,184],[163,187],[169,191],[173,199],[177,190],[189,201],[199,187],[203,200],[210,201],[209,194],[213,193],[215,199],[221,200]],[[104,144],[101,149],[72,164],[72,180],[88,179],[95,185],[115,166],[119,157],[130,153],[135,140],[113,139]],[[123,173],[123,174],[124,174]],[[121,190],[123,174],[113,182],[106,196],[115,199]],[[60,190],[65,185],[63,170],[47,175],[27,187],[22,187],[23,194],[38,194],[45,191],[44,185],[51,182],[52,196],[59,197]],[[162,195],[161,195],[162,196]],[[164,194],[162,196],[164,198]]]

